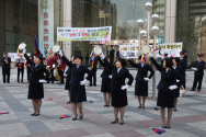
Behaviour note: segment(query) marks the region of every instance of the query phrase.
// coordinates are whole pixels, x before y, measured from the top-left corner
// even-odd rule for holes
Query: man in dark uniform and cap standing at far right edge
[[[203,55],[198,54],[198,60],[195,61],[192,68],[193,70],[195,70],[195,72],[194,72],[194,82],[191,91],[195,91],[197,87],[197,82],[198,82],[197,91],[201,91],[203,76],[204,76],[204,68],[205,68],[205,61],[203,61]]]

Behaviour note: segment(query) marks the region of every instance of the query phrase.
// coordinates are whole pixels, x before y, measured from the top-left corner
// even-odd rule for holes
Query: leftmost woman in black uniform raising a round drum
[[[44,98],[44,72],[46,73],[46,78],[48,78],[49,72],[43,65],[43,56],[36,55],[34,58],[34,62],[30,59],[30,57],[25,54],[26,49],[23,50],[24,57],[31,66],[31,72],[28,77],[30,85],[28,85],[28,95],[27,99],[32,99],[34,113],[31,116],[38,116],[41,113],[42,99]]]

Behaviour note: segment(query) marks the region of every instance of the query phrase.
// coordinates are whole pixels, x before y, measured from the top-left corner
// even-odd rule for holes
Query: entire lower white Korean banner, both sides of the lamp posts
[[[151,50],[153,50],[153,45],[149,45]],[[163,48],[168,57],[180,57],[180,52],[182,52],[182,43],[164,43],[159,44],[156,48]],[[138,58],[138,45],[119,45],[119,54],[127,52],[127,58]],[[161,57],[159,50],[156,52],[156,57]]]

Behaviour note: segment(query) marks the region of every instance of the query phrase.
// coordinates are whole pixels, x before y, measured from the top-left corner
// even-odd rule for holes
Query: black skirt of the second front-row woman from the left
[[[80,103],[87,101],[85,87],[70,87],[71,102]]]

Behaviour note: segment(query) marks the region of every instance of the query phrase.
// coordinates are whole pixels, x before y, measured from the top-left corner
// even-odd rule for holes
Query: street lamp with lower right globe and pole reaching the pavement
[[[153,49],[156,49],[157,44],[157,35],[159,33],[159,27],[157,25],[151,27],[151,33],[153,34]],[[153,58],[156,59],[156,52],[153,52]],[[153,70],[156,70],[156,67],[152,66]],[[156,75],[152,77],[152,100],[156,100]]]

